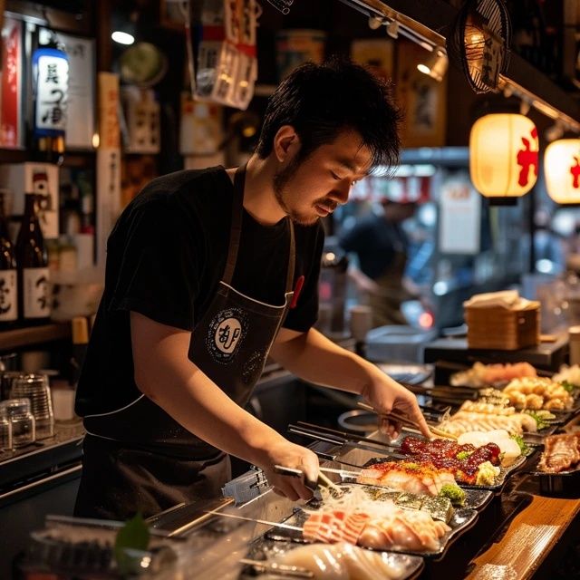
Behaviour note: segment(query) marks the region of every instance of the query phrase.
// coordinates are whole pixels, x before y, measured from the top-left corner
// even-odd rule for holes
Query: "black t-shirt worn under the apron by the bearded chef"
[[[154,179],[125,208],[107,243],[102,301],[79,380],[81,416],[114,411],[140,396],[131,353],[130,312],[193,331],[224,273],[233,185],[221,167]],[[295,225],[295,280],[304,286],[285,328],[307,331],[318,313],[322,225]],[[284,304],[287,220],[259,224],[244,210],[232,285],[267,304]]]

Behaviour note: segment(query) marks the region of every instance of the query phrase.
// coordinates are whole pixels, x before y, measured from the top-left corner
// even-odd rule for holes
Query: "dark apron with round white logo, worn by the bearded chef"
[[[237,262],[246,168],[234,178],[227,262],[216,295],[196,324],[189,359],[241,407],[247,404],[292,300],[294,225],[284,304],[265,304],[232,286]],[[141,395],[129,405],[84,418],[82,479],[75,506],[80,517],[144,517],[198,498],[220,494],[230,478],[227,455],[200,440]]]

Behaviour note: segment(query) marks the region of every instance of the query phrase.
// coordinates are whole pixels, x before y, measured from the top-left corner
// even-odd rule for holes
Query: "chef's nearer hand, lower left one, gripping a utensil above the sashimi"
[[[268,483],[279,496],[285,496],[293,501],[312,498],[312,487],[315,487],[318,479],[318,458],[310,449],[280,438],[272,442],[265,451],[264,459],[256,464],[263,469]],[[280,475],[275,472],[275,465],[300,469],[304,473],[304,478]],[[306,483],[309,487],[305,485]]]

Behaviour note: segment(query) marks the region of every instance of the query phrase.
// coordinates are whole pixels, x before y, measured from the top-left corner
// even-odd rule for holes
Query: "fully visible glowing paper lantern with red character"
[[[524,115],[497,113],[476,121],[469,135],[469,173],[488,198],[517,198],[537,179],[536,125]]]

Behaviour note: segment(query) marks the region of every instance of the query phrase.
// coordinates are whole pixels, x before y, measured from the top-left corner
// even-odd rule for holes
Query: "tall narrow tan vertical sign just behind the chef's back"
[[[119,75],[99,73],[99,149],[97,150],[97,266],[104,267],[107,238],[121,212],[121,134]]]

